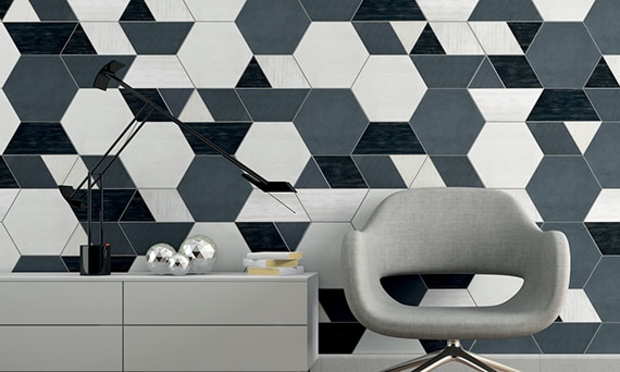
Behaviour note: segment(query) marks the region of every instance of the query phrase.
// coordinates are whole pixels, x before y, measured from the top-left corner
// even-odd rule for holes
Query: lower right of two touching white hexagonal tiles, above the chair
[[[352,91],[372,122],[406,122],[426,85],[408,55],[371,55]]]

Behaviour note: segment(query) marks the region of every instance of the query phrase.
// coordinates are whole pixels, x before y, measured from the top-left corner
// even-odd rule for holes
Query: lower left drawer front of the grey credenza
[[[122,371],[121,326],[0,326],[0,371]]]

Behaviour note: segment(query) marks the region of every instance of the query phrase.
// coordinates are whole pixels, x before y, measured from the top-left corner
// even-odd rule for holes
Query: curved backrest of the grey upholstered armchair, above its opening
[[[508,194],[486,188],[398,191],[375,209],[362,235],[376,275],[524,276],[541,233]],[[535,255],[534,255],[535,256]],[[379,263],[379,264],[377,264]]]

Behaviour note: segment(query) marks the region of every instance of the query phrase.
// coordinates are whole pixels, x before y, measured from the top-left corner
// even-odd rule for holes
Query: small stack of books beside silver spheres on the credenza
[[[302,252],[265,251],[250,252],[244,259],[248,275],[294,275],[303,273],[299,260]]]

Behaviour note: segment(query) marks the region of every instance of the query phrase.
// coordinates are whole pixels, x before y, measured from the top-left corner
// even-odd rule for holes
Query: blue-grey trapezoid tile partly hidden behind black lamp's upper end
[[[62,54],[71,76],[79,88],[92,88],[95,77],[101,67],[108,62],[116,60],[125,64],[125,67],[116,72],[116,76],[124,78],[136,55],[73,55]],[[111,82],[109,87],[115,88],[119,84]]]

